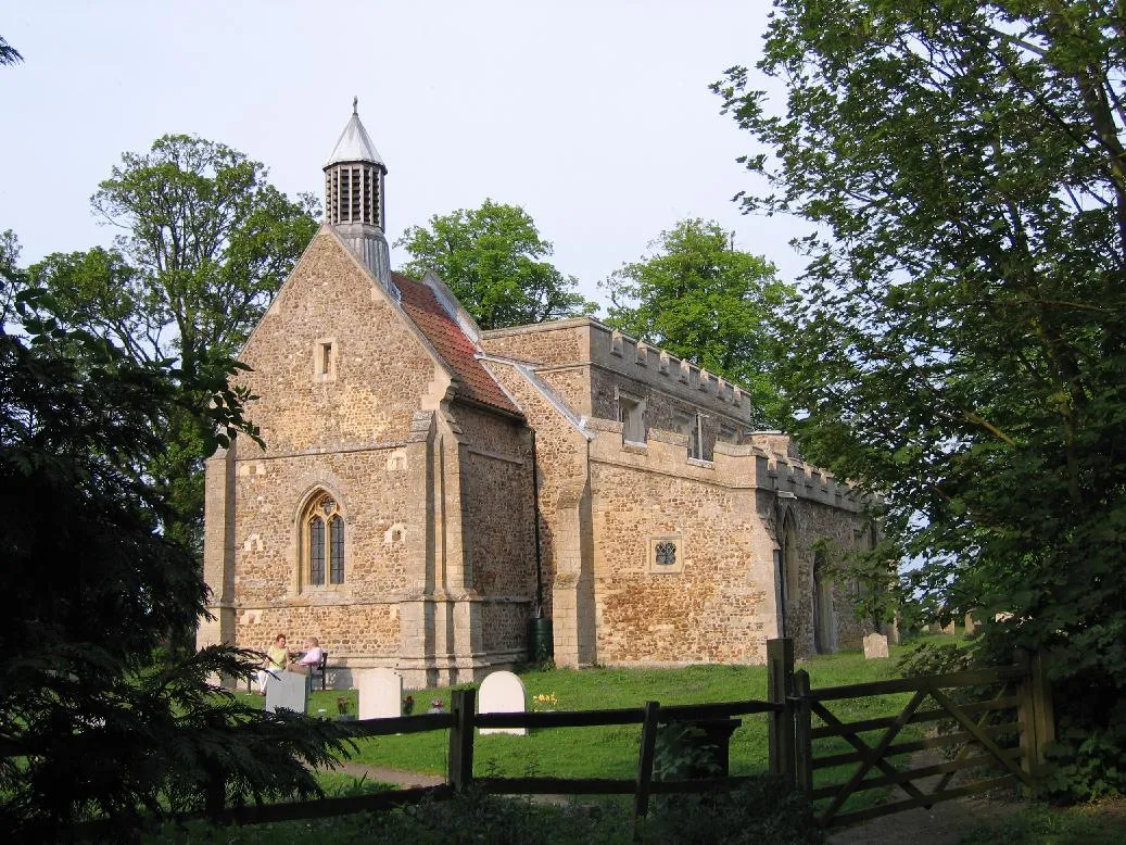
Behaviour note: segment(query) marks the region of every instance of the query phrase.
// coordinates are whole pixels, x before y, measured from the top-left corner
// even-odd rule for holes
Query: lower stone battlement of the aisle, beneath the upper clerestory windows
[[[831,473],[754,444],[720,442],[713,460],[698,461],[688,456],[688,436],[677,432],[651,428],[645,443],[631,443],[622,439],[623,425],[616,420],[596,417],[588,419],[586,427],[597,435],[590,445],[592,461],[725,487],[772,490],[784,498],[793,496],[850,512],[859,512],[864,505],[851,486]]]

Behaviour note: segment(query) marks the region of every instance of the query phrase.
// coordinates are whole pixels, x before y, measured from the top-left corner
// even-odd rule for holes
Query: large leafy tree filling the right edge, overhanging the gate
[[[803,445],[887,493],[988,637],[1126,688],[1126,152],[1118,3],[779,0],[716,89],[816,224],[784,383]],[[803,415],[799,415],[803,416]],[[913,518],[912,518],[913,517]],[[1120,692],[1120,690],[1119,690]]]

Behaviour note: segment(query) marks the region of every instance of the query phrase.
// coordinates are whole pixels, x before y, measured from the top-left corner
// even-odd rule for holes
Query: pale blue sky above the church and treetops
[[[89,197],[168,132],[265,162],[293,195],[359,96],[387,163],[388,240],[486,196],[522,205],[584,293],[662,229],[715,219],[793,279],[793,222],[747,217],[751,140],[707,90],[759,54],[767,0],[10,2],[0,230],[23,260],[108,243]],[[392,250],[392,263],[404,260]]]

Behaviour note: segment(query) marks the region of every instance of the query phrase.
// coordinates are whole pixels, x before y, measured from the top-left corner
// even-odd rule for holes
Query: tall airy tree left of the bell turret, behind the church
[[[315,199],[289,201],[260,162],[189,135],[125,153],[91,203],[122,230],[115,246],[47,256],[34,284],[69,327],[188,375],[238,352],[318,225]],[[149,469],[172,505],[166,530],[198,548],[208,433],[196,419],[173,415]]]

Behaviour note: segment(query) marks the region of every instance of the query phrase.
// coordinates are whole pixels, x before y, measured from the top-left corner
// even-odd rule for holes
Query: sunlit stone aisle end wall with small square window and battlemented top
[[[683,435],[654,429],[645,446],[622,445],[620,424],[591,424],[600,429],[591,452],[598,661],[762,662],[777,614],[750,463],[698,465]],[[661,541],[676,543],[674,564],[654,560]]]

